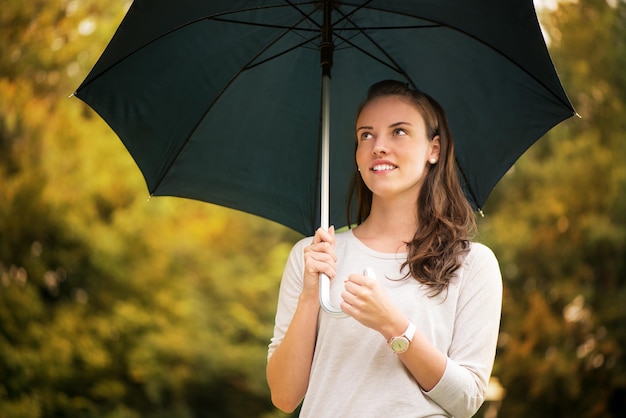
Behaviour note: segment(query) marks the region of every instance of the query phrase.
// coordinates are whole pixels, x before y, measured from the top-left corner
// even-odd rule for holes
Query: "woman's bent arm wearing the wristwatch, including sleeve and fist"
[[[426,396],[461,418],[472,416],[482,404],[495,356],[502,281],[493,253],[484,246],[476,248],[459,283],[449,348],[440,351],[416,332],[409,350],[398,358]],[[343,298],[344,312],[386,341],[408,326],[384,289],[361,275],[350,275]]]

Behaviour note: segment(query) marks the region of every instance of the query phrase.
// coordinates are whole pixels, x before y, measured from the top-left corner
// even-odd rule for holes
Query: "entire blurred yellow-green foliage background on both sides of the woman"
[[[505,285],[479,416],[625,417],[626,2],[536,4],[581,118],[534,145],[479,219]],[[121,141],[69,97],[129,6],[0,7],[0,417],[286,417],[265,362],[301,237],[148,199]]]

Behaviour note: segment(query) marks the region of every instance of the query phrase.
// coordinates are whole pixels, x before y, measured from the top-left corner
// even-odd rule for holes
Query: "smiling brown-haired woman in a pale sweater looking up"
[[[443,109],[383,81],[359,109],[356,138],[358,226],[320,229],[289,256],[272,401],[290,412],[304,399],[303,417],[472,416],[493,366],[502,281],[493,253],[470,241]],[[320,311],[321,273],[345,287],[348,318]]]

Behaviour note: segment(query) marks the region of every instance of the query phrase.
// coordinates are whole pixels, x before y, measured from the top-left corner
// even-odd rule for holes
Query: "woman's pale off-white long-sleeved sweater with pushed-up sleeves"
[[[302,290],[305,238],[291,251],[283,274],[268,358],[280,345]],[[301,417],[470,417],[484,400],[500,326],[502,279],[491,250],[472,243],[448,291],[429,297],[413,278],[400,280],[406,254],[374,251],[351,231],[336,235],[333,298],[350,273],[371,267],[400,310],[448,357],[429,392],[416,381],[378,332],[356,320],[320,311],[318,336]],[[333,302],[338,306],[338,302]]]

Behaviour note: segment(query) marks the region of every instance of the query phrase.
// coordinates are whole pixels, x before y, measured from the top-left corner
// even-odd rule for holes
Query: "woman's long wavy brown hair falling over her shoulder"
[[[421,113],[429,138],[439,135],[439,161],[430,166],[417,200],[418,226],[412,241],[407,243],[408,277],[431,287],[437,295],[446,290],[463,256],[469,251],[476,232],[476,218],[463,194],[454,158],[454,143],[445,112],[428,94],[410,88],[406,83],[385,80],[370,87],[359,107],[357,117],[372,100],[383,96],[410,99]],[[356,147],[356,145],[355,145]],[[348,201],[348,224],[352,197],[356,193],[357,219],[361,224],[370,214],[372,191],[367,188],[355,167]]]

